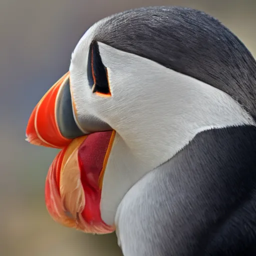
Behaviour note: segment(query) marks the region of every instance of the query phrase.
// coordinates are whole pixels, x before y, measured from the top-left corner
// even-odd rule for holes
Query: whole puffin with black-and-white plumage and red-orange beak
[[[60,149],[51,217],[115,231],[124,256],[256,255],[255,121],[241,40],[200,10],[153,6],[86,30],[26,140]]]

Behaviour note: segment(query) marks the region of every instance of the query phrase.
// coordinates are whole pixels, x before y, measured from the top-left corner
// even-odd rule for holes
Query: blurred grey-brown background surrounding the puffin
[[[115,234],[87,235],[56,224],[44,180],[56,150],[25,142],[32,108],[69,67],[85,30],[104,16],[149,5],[204,10],[256,55],[254,0],[0,0],[0,255],[121,255]]]

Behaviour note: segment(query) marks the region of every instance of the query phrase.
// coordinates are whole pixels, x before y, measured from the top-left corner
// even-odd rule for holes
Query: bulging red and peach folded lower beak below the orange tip
[[[87,233],[109,233],[100,216],[102,178],[115,131],[80,136],[51,163],[45,183],[45,203],[60,224]]]

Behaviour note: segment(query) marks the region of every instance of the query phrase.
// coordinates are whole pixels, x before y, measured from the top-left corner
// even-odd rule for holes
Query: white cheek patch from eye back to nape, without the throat
[[[149,59],[98,45],[112,97],[106,103],[111,108],[96,106],[97,112],[141,158],[150,160],[152,151],[163,151],[163,162],[198,131],[254,123],[223,91]]]

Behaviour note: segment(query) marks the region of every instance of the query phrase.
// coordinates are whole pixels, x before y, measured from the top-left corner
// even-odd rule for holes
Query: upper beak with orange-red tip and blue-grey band
[[[34,107],[26,127],[26,140],[34,145],[63,148],[72,138],[84,135],[75,116],[67,72]]]

